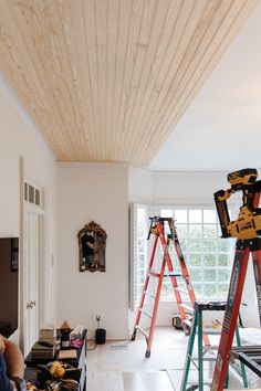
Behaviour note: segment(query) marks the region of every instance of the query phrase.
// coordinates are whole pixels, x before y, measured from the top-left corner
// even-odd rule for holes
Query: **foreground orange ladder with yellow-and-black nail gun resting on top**
[[[255,181],[255,169],[243,169],[228,175],[231,189],[217,191],[215,201],[219,214],[222,237],[237,237],[236,253],[230,277],[228,300],[215,366],[211,391],[222,391],[229,359],[232,353],[232,340],[239,316],[244,279],[250,254],[253,261],[258,309],[261,324],[261,209],[259,208],[261,180]],[[242,191],[243,204],[236,221],[230,221],[227,199]],[[251,347],[249,347],[251,348]],[[232,349],[232,350],[231,350]],[[240,356],[240,355],[239,355]],[[246,364],[247,361],[242,361]]]

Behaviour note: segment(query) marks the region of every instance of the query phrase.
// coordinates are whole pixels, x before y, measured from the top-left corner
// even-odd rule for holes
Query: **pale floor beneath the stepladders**
[[[182,331],[157,327],[150,358],[145,358],[142,336],[135,341],[98,345],[87,351],[86,391],[180,391],[187,344]],[[87,347],[92,349],[94,341],[88,341]],[[189,376],[197,379],[197,371],[191,369]],[[231,379],[229,389],[242,390],[241,382]]]

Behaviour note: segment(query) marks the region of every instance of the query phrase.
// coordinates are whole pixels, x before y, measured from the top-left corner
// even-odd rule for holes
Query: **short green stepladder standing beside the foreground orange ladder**
[[[212,380],[203,381],[203,361],[216,361],[216,357],[207,357],[207,353],[209,351],[216,350],[211,346],[206,346],[203,347],[202,344],[202,338],[203,338],[203,328],[202,328],[202,311],[203,310],[225,310],[226,309],[227,302],[206,302],[206,300],[197,300],[195,303],[194,307],[194,318],[192,318],[192,325],[190,329],[190,337],[189,337],[189,342],[188,342],[188,348],[187,348],[187,356],[186,356],[186,362],[185,362],[185,371],[182,376],[182,382],[181,382],[181,391],[194,391],[194,390],[199,390],[203,391],[203,385],[211,385]],[[195,338],[196,334],[198,334],[198,356],[192,357],[194,352],[194,344],[195,344]],[[208,335],[220,335],[220,331],[207,331]],[[238,327],[236,328],[236,339],[237,339],[237,345],[238,347],[241,347],[241,341],[240,341],[240,336],[239,336],[239,330]],[[197,361],[197,363],[195,362]],[[188,382],[188,376],[189,376],[189,370],[190,370],[190,363],[194,363],[194,366],[198,370],[198,382]],[[243,380],[243,387],[248,388],[248,381],[247,381],[247,374],[246,374],[246,369],[243,363],[240,364],[241,367],[241,376]],[[187,385],[189,387],[187,388]],[[227,381],[225,388],[228,387],[228,373],[227,373]]]

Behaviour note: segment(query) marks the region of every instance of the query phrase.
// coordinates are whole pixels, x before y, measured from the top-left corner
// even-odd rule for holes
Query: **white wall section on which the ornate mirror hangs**
[[[58,323],[84,325],[93,337],[126,338],[128,310],[128,169],[125,165],[59,163]],[[107,233],[106,272],[79,272],[79,231],[95,221]]]

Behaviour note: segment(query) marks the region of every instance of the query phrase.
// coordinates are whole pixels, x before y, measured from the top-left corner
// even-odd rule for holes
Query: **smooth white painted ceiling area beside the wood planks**
[[[153,170],[261,167],[261,1],[153,159]]]

